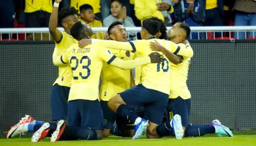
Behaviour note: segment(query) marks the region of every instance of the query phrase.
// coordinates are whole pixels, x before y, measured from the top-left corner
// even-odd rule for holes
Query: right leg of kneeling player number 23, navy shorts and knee
[[[90,127],[95,130],[98,139],[103,137],[103,113],[99,100],[78,100],[81,113],[81,127]]]

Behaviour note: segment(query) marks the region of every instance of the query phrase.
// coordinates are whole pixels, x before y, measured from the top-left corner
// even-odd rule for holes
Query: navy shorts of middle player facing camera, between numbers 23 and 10
[[[101,108],[103,111],[103,123],[105,129],[111,129],[116,119],[116,113],[114,113],[111,109],[107,106],[107,101],[101,100]]]

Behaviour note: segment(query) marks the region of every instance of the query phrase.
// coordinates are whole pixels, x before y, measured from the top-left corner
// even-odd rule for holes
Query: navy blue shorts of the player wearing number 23
[[[68,102],[68,125],[103,130],[103,113],[99,100],[71,100]]]

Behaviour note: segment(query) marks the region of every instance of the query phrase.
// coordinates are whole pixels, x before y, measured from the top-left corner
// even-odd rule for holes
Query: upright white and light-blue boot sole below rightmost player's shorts
[[[182,120],[181,120],[180,115],[179,114],[174,115],[171,119],[170,124],[174,130],[176,139],[182,139],[184,130],[182,127]]]

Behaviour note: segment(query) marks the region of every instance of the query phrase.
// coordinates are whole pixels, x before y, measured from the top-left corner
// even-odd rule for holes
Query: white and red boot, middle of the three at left
[[[31,138],[31,142],[41,141],[41,139],[43,139],[44,137],[47,136],[49,131],[50,131],[50,124],[43,123],[43,125],[37,131],[35,131],[35,133],[33,134],[32,138]]]

